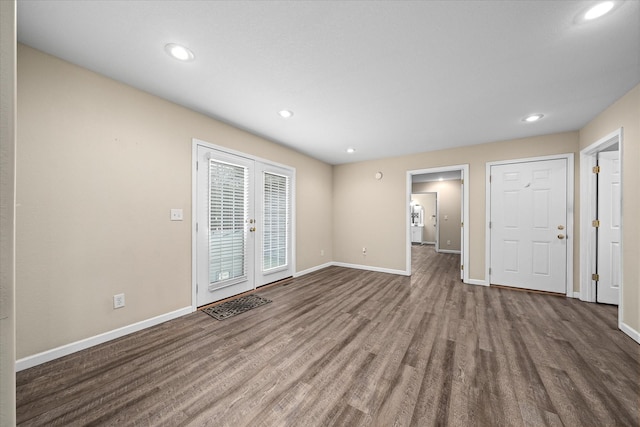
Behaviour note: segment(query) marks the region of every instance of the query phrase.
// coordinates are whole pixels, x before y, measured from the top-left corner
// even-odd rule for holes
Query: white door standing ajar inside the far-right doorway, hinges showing
[[[620,153],[598,153],[597,301],[619,304],[620,300]]]

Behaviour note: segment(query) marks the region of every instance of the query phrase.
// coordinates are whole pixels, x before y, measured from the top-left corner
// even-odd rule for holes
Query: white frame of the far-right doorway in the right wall
[[[598,153],[618,144],[620,153],[620,189],[622,190],[622,128],[619,128],[609,135],[600,138],[598,141],[580,150],[580,299],[582,301],[595,302],[596,291],[595,282],[591,279],[591,274],[595,271],[596,262],[596,233],[591,226],[591,221],[596,217],[596,177],[592,169],[598,161]],[[622,194],[622,191],[621,191]],[[621,195],[621,204],[622,204]],[[624,233],[622,209],[620,209],[620,252],[624,253]],[[618,325],[622,324],[622,287],[624,279],[622,277],[622,257],[620,257],[620,303],[618,304]]]

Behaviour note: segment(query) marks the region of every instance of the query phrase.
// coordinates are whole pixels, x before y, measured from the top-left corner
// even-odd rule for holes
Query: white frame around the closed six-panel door
[[[527,163],[527,162],[539,162],[543,160],[567,160],[567,232],[565,233],[566,239],[570,244],[567,244],[567,275],[566,275],[566,295],[568,297],[575,297],[573,293],[573,214],[574,214],[574,166],[573,166],[573,153],[567,154],[554,154],[551,156],[542,157],[527,157],[523,159],[511,159],[502,160],[496,162],[487,162],[485,169],[485,277],[487,286],[491,284],[491,228],[489,222],[491,221],[491,166],[508,165],[512,163]]]

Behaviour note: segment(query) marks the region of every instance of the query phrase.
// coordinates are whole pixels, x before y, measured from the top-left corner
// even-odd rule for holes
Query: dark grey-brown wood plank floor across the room
[[[615,307],[464,285],[457,255],[413,251],[411,278],[331,267],[19,372],[19,424],[639,424]]]

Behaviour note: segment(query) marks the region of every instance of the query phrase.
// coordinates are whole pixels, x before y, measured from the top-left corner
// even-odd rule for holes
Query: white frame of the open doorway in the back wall
[[[460,248],[460,261],[464,267],[462,269],[462,281],[468,284],[481,284],[478,280],[469,279],[469,164],[443,166],[438,168],[418,169],[407,171],[406,194],[405,194],[405,242],[406,242],[406,266],[405,274],[411,275],[411,226],[409,212],[409,204],[411,203],[411,189],[413,184],[413,175],[422,175],[427,173],[440,173],[449,171],[460,171],[462,173],[462,246]],[[439,222],[439,221],[438,221]],[[439,224],[438,224],[439,225]]]

